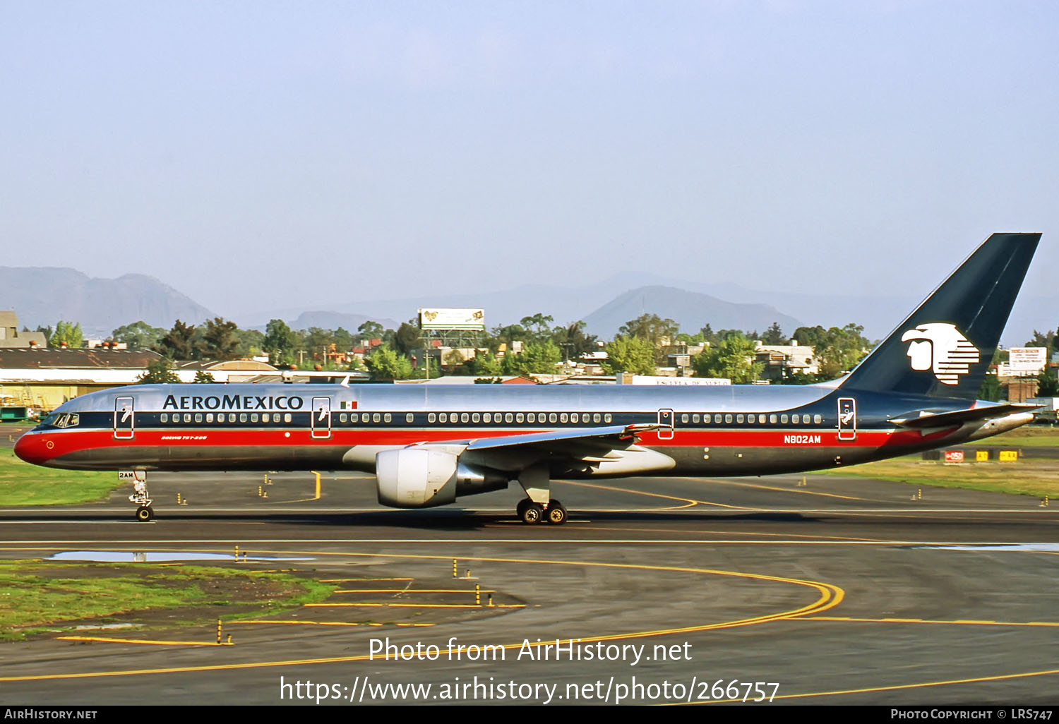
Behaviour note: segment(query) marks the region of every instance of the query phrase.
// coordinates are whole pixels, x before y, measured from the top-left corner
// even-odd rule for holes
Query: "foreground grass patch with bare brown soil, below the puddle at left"
[[[261,616],[326,599],[336,586],[290,573],[143,563],[0,563],[0,639],[85,622],[209,621]],[[225,611],[230,609],[230,611]],[[154,615],[152,615],[154,614]]]

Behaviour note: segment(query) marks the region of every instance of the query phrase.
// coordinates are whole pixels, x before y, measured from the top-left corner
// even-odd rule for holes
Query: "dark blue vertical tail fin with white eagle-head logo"
[[[973,400],[1040,234],[993,234],[842,381]]]

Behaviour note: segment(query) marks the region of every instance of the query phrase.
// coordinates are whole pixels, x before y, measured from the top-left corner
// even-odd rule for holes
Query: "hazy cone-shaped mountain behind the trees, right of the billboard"
[[[585,316],[585,326],[593,334],[610,339],[618,327],[641,314],[658,314],[680,325],[682,331],[694,334],[708,324],[719,329],[744,329],[764,332],[773,322],[788,334],[802,326],[766,304],[734,304],[708,294],[675,287],[640,287],[616,297]]]

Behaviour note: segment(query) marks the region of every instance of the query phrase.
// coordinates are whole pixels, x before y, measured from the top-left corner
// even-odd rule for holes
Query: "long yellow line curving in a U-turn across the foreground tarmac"
[[[375,553],[364,553],[364,554],[344,554],[355,557],[362,558],[405,558],[413,560],[438,560],[438,561],[450,561],[451,556],[429,556],[429,555],[418,555],[418,554],[375,554]],[[845,597],[845,592],[837,585],[830,583],[823,583],[820,581],[811,581],[807,579],[797,578],[784,578],[780,576],[766,576],[762,574],[750,574],[750,573],[739,573],[733,571],[717,571],[713,568],[689,568],[683,566],[663,566],[663,565],[645,565],[635,563],[605,563],[602,561],[567,561],[567,560],[544,560],[544,559],[517,559],[517,558],[490,558],[490,557],[464,557],[465,561],[474,561],[478,563],[517,563],[517,564],[541,564],[541,565],[571,565],[571,566],[582,566],[582,567],[599,567],[599,568],[618,568],[618,569],[636,569],[636,571],[667,571],[676,573],[692,573],[692,574],[703,574],[703,575],[714,575],[714,576],[729,576],[734,578],[743,578],[750,580],[759,581],[771,581],[777,583],[789,583],[797,586],[809,587],[819,593],[819,597],[815,601],[807,603],[797,609],[790,611],[779,611],[772,614],[765,614],[760,616],[754,616],[752,618],[735,619],[730,621],[718,621],[716,623],[703,623],[698,626],[687,626],[678,627],[671,629],[659,629],[652,631],[636,631],[629,633],[618,633],[618,634],[605,634],[599,636],[581,636],[579,637],[584,642],[596,642],[596,641],[614,641],[624,640],[630,638],[646,638],[652,636],[666,636],[672,634],[684,634],[684,633],[695,633],[700,631],[711,631],[716,629],[730,629],[743,626],[753,626],[756,623],[765,623],[769,621],[782,620],[785,618],[790,618],[792,616],[798,616],[803,614],[815,614],[828,611],[842,602]],[[384,605],[384,604],[380,604]],[[472,607],[488,609],[488,607]],[[493,607],[497,608],[497,607]],[[538,642],[518,642],[518,644],[505,644],[498,648],[503,649],[521,649],[524,646],[530,646],[531,648],[539,648],[542,646],[549,646],[546,640]],[[442,655],[454,653],[453,650],[442,651]],[[389,656],[388,656],[389,657]],[[380,658],[380,656],[374,656],[374,658]],[[37,674],[37,675],[26,675],[26,676],[0,676],[0,682],[29,682],[29,681],[54,681],[54,680],[66,680],[66,678],[97,678],[105,676],[131,676],[141,674],[164,674],[164,673],[185,673],[185,672],[200,672],[200,671],[231,671],[240,669],[259,669],[279,666],[308,666],[315,664],[340,664],[349,662],[363,662],[372,659],[371,654],[361,654],[357,656],[334,656],[326,658],[305,658],[305,659],[291,659],[291,660],[276,660],[276,662],[248,662],[243,664],[214,664],[214,665],[200,665],[200,666],[184,666],[184,667],[170,667],[161,669],[132,669],[132,670],[116,670],[116,671],[93,671],[93,672],[82,672],[82,673],[54,673],[54,674]]]

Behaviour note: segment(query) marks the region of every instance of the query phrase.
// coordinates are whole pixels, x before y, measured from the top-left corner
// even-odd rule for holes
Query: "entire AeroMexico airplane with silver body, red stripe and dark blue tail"
[[[360,470],[378,502],[425,508],[553,478],[793,473],[977,440],[1035,405],[977,392],[1040,234],[993,234],[852,372],[810,385],[156,384],[76,397],[20,437],[29,463],[118,470],[140,521],[154,470]]]

